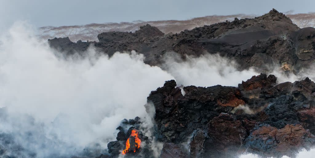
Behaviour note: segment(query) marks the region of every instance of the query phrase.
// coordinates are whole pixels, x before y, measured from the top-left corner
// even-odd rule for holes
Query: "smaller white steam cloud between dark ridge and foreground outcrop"
[[[187,56],[185,62],[174,53],[167,54],[163,68],[176,78],[178,85],[184,86],[237,86],[260,74],[253,69],[238,71],[234,61],[220,57],[219,54]]]

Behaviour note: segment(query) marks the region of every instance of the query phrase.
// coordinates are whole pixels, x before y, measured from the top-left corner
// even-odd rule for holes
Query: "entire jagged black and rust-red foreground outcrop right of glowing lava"
[[[294,157],[315,145],[315,83],[276,80],[261,74],[238,87],[187,86],[185,95],[167,81],[147,98],[156,111],[155,136],[179,146],[191,138],[190,157],[231,157],[246,149]]]

